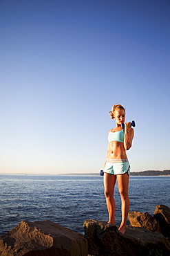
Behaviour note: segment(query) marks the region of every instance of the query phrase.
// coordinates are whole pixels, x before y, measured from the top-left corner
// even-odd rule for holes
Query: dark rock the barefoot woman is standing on
[[[89,255],[170,255],[169,241],[157,231],[127,226],[127,231],[123,235],[114,224],[93,219],[86,220],[84,228]]]

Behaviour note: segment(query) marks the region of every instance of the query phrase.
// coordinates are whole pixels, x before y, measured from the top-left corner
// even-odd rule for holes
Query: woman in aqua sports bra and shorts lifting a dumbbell
[[[126,150],[131,148],[134,138],[134,129],[131,128],[131,122],[125,123],[125,128],[122,128],[122,123],[125,122],[125,109],[122,105],[116,104],[109,112],[111,119],[116,120],[116,127],[109,130],[107,149],[107,159],[105,162],[104,186],[107,210],[109,212],[108,223],[115,224],[115,201],[114,201],[114,186],[116,179],[118,182],[118,191],[121,196],[122,221],[118,230],[125,233],[127,215],[129,212],[129,174],[130,165],[127,159]]]

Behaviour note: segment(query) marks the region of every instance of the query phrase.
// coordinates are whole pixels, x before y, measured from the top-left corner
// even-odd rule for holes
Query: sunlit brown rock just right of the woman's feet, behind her
[[[148,212],[129,212],[128,219],[133,227],[147,228],[152,231],[160,232],[160,224]]]

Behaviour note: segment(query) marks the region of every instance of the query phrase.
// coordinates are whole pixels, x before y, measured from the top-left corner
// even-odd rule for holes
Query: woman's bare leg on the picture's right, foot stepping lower
[[[117,181],[118,181],[118,191],[120,193],[121,202],[122,202],[122,222],[120,223],[120,227],[118,230],[124,234],[126,231],[127,216],[129,212],[129,195],[128,195],[129,175],[128,174],[117,175]]]

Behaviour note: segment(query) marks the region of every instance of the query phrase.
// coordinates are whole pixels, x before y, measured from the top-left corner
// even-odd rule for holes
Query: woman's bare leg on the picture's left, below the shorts
[[[108,223],[115,224],[115,201],[114,201],[114,185],[116,183],[116,175],[104,174],[105,197],[107,203],[107,210],[109,212]]]

